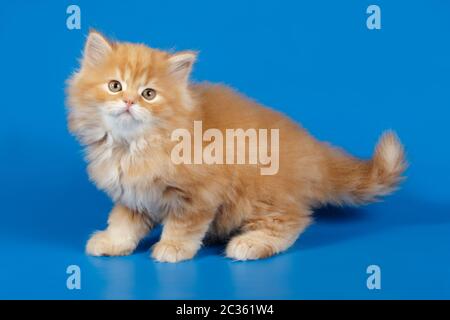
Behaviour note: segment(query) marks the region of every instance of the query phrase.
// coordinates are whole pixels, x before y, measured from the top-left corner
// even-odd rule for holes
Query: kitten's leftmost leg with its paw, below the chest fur
[[[92,235],[86,252],[93,256],[124,256],[136,249],[152,222],[144,214],[116,205],[108,218],[108,227]]]

